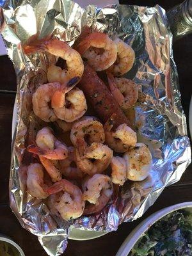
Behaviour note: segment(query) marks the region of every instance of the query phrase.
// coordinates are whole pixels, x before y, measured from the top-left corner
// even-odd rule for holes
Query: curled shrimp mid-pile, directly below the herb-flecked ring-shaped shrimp
[[[107,145],[93,142],[90,147],[84,148],[83,152],[79,150],[81,146],[80,140],[77,141],[77,166],[80,170],[88,175],[94,175],[95,173],[102,173],[108,168],[111,158],[113,157],[113,150]]]

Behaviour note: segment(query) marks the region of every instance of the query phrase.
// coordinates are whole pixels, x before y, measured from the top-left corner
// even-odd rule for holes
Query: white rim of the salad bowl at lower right
[[[140,239],[141,235],[145,233],[148,228],[150,228],[156,221],[160,220],[167,214],[173,211],[177,211],[179,209],[189,208],[191,207],[190,211],[192,212],[192,202],[184,202],[181,204],[175,204],[169,207],[166,207],[154,214],[150,215],[147,219],[143,220],[140,225],[138,225],[132,232],[127,236],[122,246],[119,248],[116,256],[127,256],[131,249],[133,248],[134,244]]]

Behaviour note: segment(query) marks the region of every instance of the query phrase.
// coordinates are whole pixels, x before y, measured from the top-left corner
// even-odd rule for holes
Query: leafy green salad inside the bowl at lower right
[[[192,256],[192,213],[179,210],[148,229],[128,256]]]

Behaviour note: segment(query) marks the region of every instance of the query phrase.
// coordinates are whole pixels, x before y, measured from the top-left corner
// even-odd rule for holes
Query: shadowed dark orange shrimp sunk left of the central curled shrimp
[[[68,179],[81,179],[83,172],[77,167],[76,164],[76,149],[68,147],[68,157],[60,161],[61,173]]]

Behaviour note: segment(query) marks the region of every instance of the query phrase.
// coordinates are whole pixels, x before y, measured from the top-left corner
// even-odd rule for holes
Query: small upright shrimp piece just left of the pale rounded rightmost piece
[[[111,170],[112,182],[123,186],[126,180],[126,164],[124,158],[113,156],[111,159]]]

